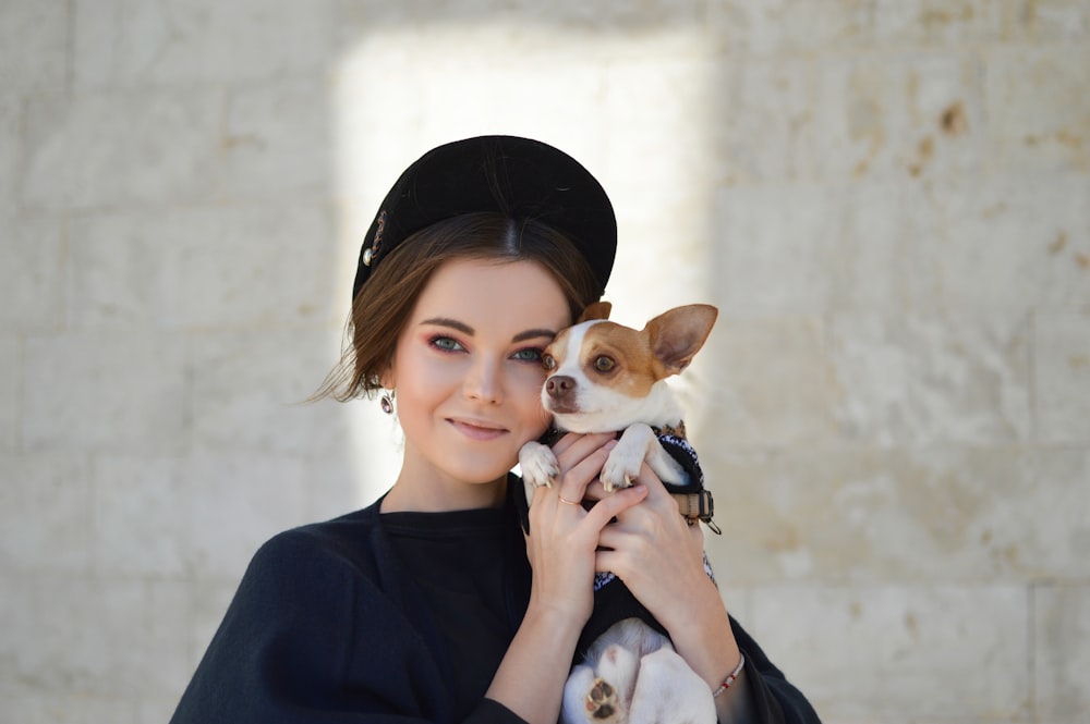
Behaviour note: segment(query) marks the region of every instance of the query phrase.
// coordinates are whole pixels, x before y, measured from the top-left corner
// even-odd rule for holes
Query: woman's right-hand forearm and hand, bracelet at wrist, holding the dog
[[[625,581],[666,628],[681,658],[715,689],[741,654],[719,591],[704,572],[703,530],[686,523],[646,464],[634,484],[647,489],[646,500],[622,510],[603,529],[596,570],[610,570]],[[596,488],[590,492],[600,494]]]

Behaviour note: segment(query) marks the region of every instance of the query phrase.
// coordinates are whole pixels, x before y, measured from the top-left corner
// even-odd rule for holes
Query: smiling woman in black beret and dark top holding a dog
[[[382,393],[391,413],[396,401],[400,474],[372,506],[257,552],[172,721],[556,722],[597,570],[719,691],[720,721],[816,721],[732,625],[700,527],[654,474],[603,493],[611,435],[556,444],[558,482],[521,531],[509,470],[548,425],[541,353],[602,295],[615,247],[598,183],[545,144],[470,138],[402,174],[368,230],[352,344],[323,390]],[[584,498],[597,502],[566,504]]]

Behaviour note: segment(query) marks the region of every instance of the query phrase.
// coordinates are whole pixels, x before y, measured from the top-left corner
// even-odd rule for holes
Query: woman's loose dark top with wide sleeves
[[[257,551],[173,724],[522,721],[482,698],[529,603],[511,502],[389,515],[379,504]],[[816,722],[731,625],[759,721]]]

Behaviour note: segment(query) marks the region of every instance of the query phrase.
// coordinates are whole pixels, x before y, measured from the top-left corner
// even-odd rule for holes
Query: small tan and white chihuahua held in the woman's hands
[[[560,430],[621,431],[598,476],[606,491],[631,486],[644,462],[667,488],[686,487],[686,468],[658,439],[683,437],[681,409],[665,380],[692,361],[718,311],[708,305],[678,307],[638,331],[608,321],[610,308],[607,302],[591,305],[545,349],[542,403]],[[559,474],[553,451],[540,442],[523,445],[519,465],[528,501],[534,488],[552,486]],[[688,508],[693,498],[675,495],[682,515],[690,524],[710,520],[710,510]],[[565,685],[564,724],[715,721],[707,684],[669,638],[639,617],[623,617],[598,636]]]

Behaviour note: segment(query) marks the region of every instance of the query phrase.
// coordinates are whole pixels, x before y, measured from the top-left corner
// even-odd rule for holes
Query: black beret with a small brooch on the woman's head
[[[602,185],[576,159],[517,136],[477,136],[433,148],[383,199],[360,250],[352,298],[398,244],[437,221],[491,211],[534,219],[568,236],[605,291],[617,220]]]

